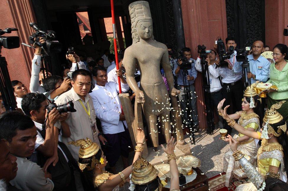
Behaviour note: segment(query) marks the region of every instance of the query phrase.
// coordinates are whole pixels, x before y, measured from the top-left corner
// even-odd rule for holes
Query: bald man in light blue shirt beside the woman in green
[[[251,83],[268,80],[270,62],[261,56],[263,48],[264,43],[262,41],[255,41],[252,45],[253,54],[247,56],[250,66],[250,73],[247,74],[247,77],[251,79]]]

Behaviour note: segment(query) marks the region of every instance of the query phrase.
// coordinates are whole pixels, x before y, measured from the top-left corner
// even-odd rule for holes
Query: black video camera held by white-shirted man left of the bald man
[[[234,56],[234,46],[229,47],[229,51],[226,53],[225,44],[222,41],[221,38],[218,38],[217,40],[217,52],[219,55],[219,61],[220,61],[220,67],[221,68],[227,68],[228,62],[226,62],[226,59],[233,58]]]

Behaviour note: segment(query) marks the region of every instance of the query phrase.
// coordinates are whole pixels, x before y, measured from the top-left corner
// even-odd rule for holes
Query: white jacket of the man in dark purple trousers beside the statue
[[[128,91],[127,83],[121,83],[122,91]],[[119,120],[121,104],[118,96],[119,86],[115,82],[107,82],[105,86],[95,85],[90,93],[96,108],[96,116],[100,119],[104,134],[115,134],[125,131],[122,121]],[[123,121],[127,127],[126,121]]]

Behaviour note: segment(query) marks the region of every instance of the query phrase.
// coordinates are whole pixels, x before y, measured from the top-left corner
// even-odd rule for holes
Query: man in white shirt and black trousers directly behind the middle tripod
[[[217,64],[219,63],[216,51],[211,50],[211,53],[207,53],[206,61],[208,64],[210,95],[211,95],[210,97],[212,100],[211,111],[213,113],[214,109],[217,108],[218,103],[223,99],[222,81],[219,74],[219,68],[216,65],[216,63]],[[197,71],[202,72],[201,58],[199,57],[196,60],[195,68]],[[214,115],[212,115],[212,117],[214,122]],[[218,115],[218,118],[219,118],[219,128],[223,128],[223,118],[220,115]],[[214,129],[212,129],[212,132],[213,130]]]

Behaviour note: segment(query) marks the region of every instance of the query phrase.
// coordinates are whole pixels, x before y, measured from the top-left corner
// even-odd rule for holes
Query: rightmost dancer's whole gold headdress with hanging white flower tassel
[[[280,125],[277,127],[278,128],[277,132],[275,132],[273,127],[271,127],[272,124],[279,123],[281,120],[283,120],[283,116],[276,110],[279,109],[283,103],[285,103],[285,101],[280,101],[272,105],[270,109],[266,110],[263,118],[263,122],[265,123],[265,125],[262,131],[261,138],[269,139],[268,134],[273,134],[276,137],[279,137],[282,134],[282,131],[286,133],[287,130],[286,122],[284,125]]]

